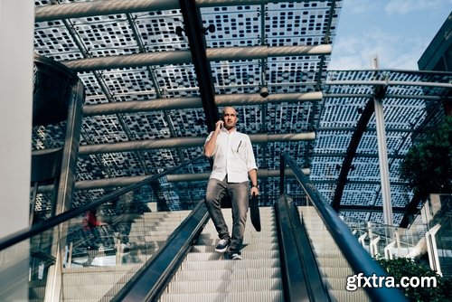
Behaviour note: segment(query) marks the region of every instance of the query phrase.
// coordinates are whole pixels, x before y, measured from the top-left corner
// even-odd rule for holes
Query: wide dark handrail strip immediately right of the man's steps
[[[275,211],[285,301],[330,301],[297,209],[281,195]]]

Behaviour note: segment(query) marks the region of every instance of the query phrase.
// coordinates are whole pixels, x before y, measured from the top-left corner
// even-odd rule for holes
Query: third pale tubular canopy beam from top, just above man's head
[[[270,94],[267,98],[262,98],[258,93],[231,94],[215,95],[214,98],[215,104],[217,106],[262,105],[282,102],[320,101],[322,100],[322,92],[278,93]],[[86,117],[89,117],[95,115],[108,115],[117,113],[196,108],[202,108],[201,98],[170,98],[85,105],[83,108],[83,114]]]

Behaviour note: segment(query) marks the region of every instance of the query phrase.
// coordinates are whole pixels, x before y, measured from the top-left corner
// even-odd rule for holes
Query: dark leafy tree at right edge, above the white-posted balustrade
[[[413,193],[452,193],[452,117],[410,147],[400,175]]]

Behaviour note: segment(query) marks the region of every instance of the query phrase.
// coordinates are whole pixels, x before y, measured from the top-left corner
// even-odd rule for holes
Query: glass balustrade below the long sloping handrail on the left
[[[209,172],[198,157],[119,195],[102,190],[99,206],[0,250],[0,297],[14,299],[18,280],[33,301],[114,297],[202,200]]]

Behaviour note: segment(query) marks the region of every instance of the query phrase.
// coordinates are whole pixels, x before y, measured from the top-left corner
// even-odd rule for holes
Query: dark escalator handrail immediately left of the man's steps
[[[157,301],[208,220],[202,200],[111,301]]]

